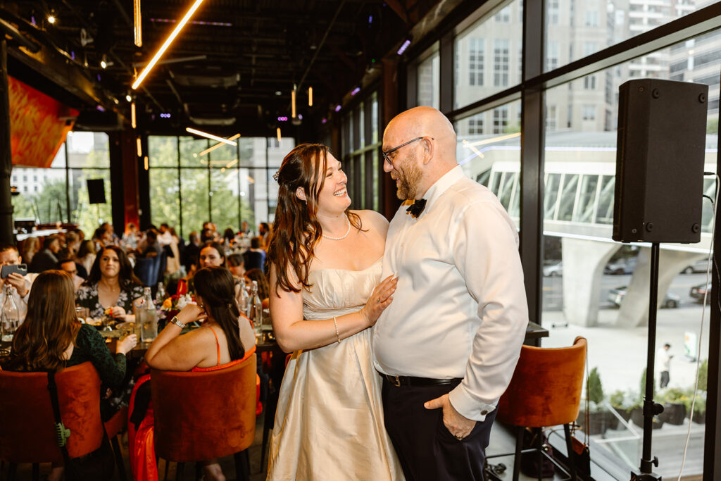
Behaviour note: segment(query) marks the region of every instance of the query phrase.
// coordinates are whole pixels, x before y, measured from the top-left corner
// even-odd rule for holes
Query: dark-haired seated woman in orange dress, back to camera
[[[198,270],[194,279],[197,304],[187,304],[158,335],[145,355],[146,362],[154,369],[222,369],[255,350],[255,333],[247,319],[240,315],[230,271],[207,267]],[[203,321],[200,329],[180,335],[182,325],[196,320]],[[204,464],[205,479],[225,479],[215,459]]]

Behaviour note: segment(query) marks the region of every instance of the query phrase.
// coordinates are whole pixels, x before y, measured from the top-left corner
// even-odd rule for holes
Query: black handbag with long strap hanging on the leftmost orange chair
[[[67,481],[109,480],[115,470],[115,457],[112,455],[105,427],[102,429],[102,442],[98,449],[85,456],[71,458],[66,447],[66,441],[71,436],[71,432],[65,428],[60,417],[58,385],[55,382],[54,372],[48,372],[48,391],[50,392],[50,402],[53,404],[58,447],[65,460],[65,479]]]

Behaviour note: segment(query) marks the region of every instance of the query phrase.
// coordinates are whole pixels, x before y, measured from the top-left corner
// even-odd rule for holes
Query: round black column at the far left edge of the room
[[[14,243],[12,234],[12,200],[10,175],[12,151],[10,149],[10,99],[7,86],[7,41],[0,40],[0,242]]]

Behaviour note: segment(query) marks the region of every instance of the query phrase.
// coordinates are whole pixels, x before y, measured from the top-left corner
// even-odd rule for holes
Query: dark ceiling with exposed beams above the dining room
[[[38,69],[11,43],[9,73],[15,70],[27,80],[29,70],[40,70],[55,84],[44,90],[60,84],[59,92],[76,94],[85,109],[94,109],[89,100],[95,98],[126,118],[125,95],[131,93],[149,130],[193,124],[224,133],[274,128],[278,116],[290,116],[294,85],[298,112],[315,120],[327,115],[397,48],[434,2],[205,0],[162,64],[131,92],[134,71],[141,71],[192,3],[141,0],[143,46],[137,48],[131,0],[0,1],[0,17],[51,50]],[[54,25],[47,22],[51,12]],[[65,75],[71,79],[53,79],[58,71],[53,56],[74,70]],[[103,58],[106,69],[100,66]],[[313,107],[308,87],[313,87]],[[161,113],[170,118],[161,120]]]

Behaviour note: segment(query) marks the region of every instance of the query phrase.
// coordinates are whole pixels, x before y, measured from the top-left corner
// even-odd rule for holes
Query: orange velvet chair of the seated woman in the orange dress
[[[155,452],[177,463],[235,455],[236,480],[249,478],[255,438],[256,355],[205,372],[151,370]],[[182,476],[182,464],[177,475]]]

